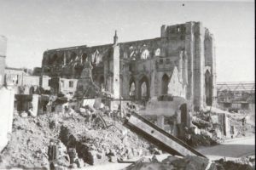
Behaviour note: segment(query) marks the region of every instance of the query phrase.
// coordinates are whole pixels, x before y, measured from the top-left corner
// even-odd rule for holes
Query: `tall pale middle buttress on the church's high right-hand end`
[[[204,97],[204,28],[201,22],[195,23],[195,62],[194,62],[194,107],[202,109]]]

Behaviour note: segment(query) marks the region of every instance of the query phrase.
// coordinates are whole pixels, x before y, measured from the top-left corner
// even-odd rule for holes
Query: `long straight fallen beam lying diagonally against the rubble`
[[[148,142],[155,144],[161,150],[172,155],[206,157],[137,113],[132,113],[129,118],[126,118],[124,125],[132,132],[137,133],[139,136],[147,139]]]

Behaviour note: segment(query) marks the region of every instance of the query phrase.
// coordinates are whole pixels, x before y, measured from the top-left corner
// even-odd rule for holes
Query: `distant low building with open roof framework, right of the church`
[[[255,111],[254,82],[219,82],[217,83],[218,105],[230,112]]]

